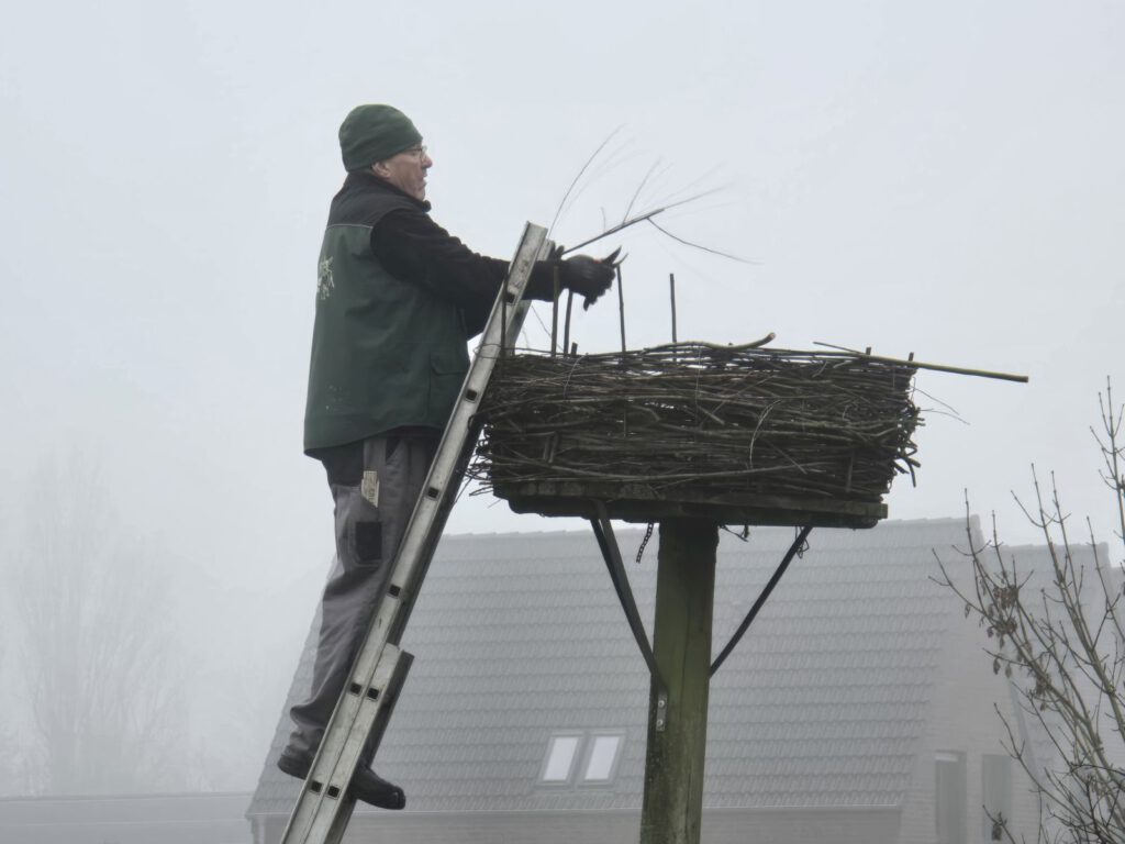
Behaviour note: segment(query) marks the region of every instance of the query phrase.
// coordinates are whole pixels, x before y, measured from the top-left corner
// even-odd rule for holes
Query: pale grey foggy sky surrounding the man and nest
[[[721,186],[662,225],[754,261],[651,228],[598,244],[629,252],[631,347],[669,339],[675,272],[681,339],[773,331],[1027,374],[919,376],[919,404],[963,421],[927,416],[918,487],[897,482],[891,517],[956,517],[968,487],[1034,541],[1009,494],[1034,463],[1108,538],[1087,429],[1107,375],[1125,398],[1117,3],[116,0],[3,17],[0,547],[19,547],[44,460],[94,456],[127,530],[187,575],[184,601],[224,595],[232,665],[296,659],[331,555],[302,415],[335,133],[359,102],[414,119],[433,217],[500,257],[621,127],[554,236],[620,219],[659,159],[639,205]],[[609,298],[577,322],[579,350],[615,348],[616,324]],[[556,527],[476,497],[449,530]]]

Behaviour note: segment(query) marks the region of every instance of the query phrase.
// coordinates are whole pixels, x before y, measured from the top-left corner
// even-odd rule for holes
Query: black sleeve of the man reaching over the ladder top
[[[484,330],[507,276],[507,261],[474,252],[421,209],[385,215],[371,228],[371,251],[396,278],[422,285],[460,307],[469,336]],[[549,302],[556,268],[561,262],[537,262],[524,298]]]

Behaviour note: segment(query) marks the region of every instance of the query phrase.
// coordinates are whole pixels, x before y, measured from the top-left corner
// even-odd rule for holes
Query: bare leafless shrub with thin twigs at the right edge
[[[1101,430],[1094,436],[1125,550],[1125,410],[1115,410],[1110,384],[1098,398]],[[988,650],[993,670],[1012,679],[1023,717],[1048,751],[1037,757],[1004,719],[1006,749],[1040,796],[1038,841],[1125,844],[1125,557],[1107,559],[1087,520],[1094,568],[1080,564],[1084,542],[1070,530],[1054,478],[1048,500],[1037,476],[1034,488],[1034,505],[1024,512],[1043,533],[1048,569],[1033,573],[1006,555],[993,524],[983,547],[969,531],[972,586],[956,585],[943,566],[944,584],[994,643]],[[1005,818],[991,820],[994,841],[1015,841]]]

